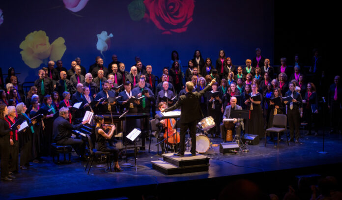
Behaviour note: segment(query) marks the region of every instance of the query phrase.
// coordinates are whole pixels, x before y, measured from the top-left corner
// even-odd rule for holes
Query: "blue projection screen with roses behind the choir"
[[[173,50],[183,71],[196,49],[213,62],[223,49],[236,65],[259,47],[273,62],[273,7],[272,0],[1,1],[1,68],[15,67],[23,83],[50,59],[69,69],[80,57],[88,70],[96,56],[107,66],[116,54],[129,71],[139,56],[157,76]]]

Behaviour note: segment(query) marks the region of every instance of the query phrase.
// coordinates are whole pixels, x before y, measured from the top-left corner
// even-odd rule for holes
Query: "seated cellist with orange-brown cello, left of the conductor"
[[[159,109],[166,109],[166,102],[160,102],[158,104]],[[159,141],[162,141],[165,139],[163,143],[160,143],[160,146],[162,148],[162,152],[164,153],[164,143],[167,143],[174,147],[173,145],[179,143],[180,136],[179,133],[174,134],[176,132],[176,129],[172,129],[172,125],[175,123],[175,119],[162,119],[162,117],[159,114],[156,114],[154,116],[156,126],[158,127],[158,130],[156,131],[155,137],[159,138]],[[169,137],[167,136],[169,135]]]

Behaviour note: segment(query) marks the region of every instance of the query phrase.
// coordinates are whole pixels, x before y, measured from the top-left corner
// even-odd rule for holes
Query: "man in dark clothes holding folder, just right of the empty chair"
[[[286,96],[291,96],[292,101],[284,101],[286,104],[286,114],[288,125],[290,127],[290,141],[293,141],[295,131],[295,143],[299,143],[299,127],[300,127],[300,108],[302,107],[302,97],[294,90],[293,83],[289,84],[289,90],[285,93]]]

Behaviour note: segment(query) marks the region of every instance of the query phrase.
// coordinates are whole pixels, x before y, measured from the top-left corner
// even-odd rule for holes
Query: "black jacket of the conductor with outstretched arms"
[[[181,95],[178,98],[178,101],[173,106],[165,109],[165,112],[173,111],[180,107],[181,123],[190,123],[193,121],[198,121],[200,118],[203,117],[203,114],[199,107],[199,98],[210,89],[211,86],[208,85],[199,92],[188,92],[184,95]]]

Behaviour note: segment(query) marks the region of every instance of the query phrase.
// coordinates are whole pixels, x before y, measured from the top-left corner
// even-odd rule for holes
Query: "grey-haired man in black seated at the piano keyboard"
[[[53,139],[59,145],[72,145],[76,153],[82,160],[85,160],[85,142],[80,139],[71,137],[71,130],[81,128],[88,120],[80,124],[72,125],[67,118],[69,117],[69,109],[62,107],[59,109],[59,116],[53,124]]]

